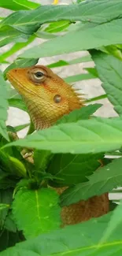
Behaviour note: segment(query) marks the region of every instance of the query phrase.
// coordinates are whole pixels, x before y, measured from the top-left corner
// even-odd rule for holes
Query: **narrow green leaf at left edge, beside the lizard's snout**
[[[6,119],[7,119],[7,89],[6,82],[3,79],[2,72],[0,72],[0,134],[7,140],[9,140],[9,136],[6,131]]]

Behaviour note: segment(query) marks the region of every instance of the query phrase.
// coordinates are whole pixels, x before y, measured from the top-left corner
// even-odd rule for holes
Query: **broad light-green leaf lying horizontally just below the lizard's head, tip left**
[[[117,150],[122,146],[122,119],[92,118],[58,124],[28,135],[5,147],[34,147],[52,153],[88,154]]]

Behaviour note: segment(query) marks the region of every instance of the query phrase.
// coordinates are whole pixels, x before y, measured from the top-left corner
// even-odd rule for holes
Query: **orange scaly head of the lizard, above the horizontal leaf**
[[[48,128],[83,106],[75,90],[43,65],[11,69],[7,78],[24,98],[35,129]]]

